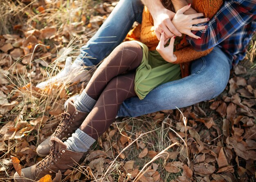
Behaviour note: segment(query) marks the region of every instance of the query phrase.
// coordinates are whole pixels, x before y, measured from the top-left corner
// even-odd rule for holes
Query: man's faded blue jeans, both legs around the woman
[[[83,61],[87,66],[98,64],[123,41],[133,22],[141,22],[142,11],[140,0],[120,0],[97,33],[81,48],[76,61]],[[135,117],[213,99],[227,86],[231,63],[231,56],[216,46],[209,55],[191,63],[191,75],[158,86],[143,100],[127,99],[117,115]]]

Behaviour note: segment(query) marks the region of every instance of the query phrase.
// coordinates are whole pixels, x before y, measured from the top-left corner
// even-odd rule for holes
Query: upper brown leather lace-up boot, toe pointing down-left
[[[51,149],[51,138],[57,137],[60,140],[66,140],[78,129],[85,120],[88,112],[80,112],[72,101],[67,103],[66,111],[61,114],[61,122],[58,124],[55,132],[44,140],[36,149],[36,153],[40,157],[46,157]]]

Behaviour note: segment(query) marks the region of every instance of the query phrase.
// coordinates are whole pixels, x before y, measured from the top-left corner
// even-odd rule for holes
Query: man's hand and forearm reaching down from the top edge
[[[145,6],[149,9],[150,14],[154,20],[155,33],[157,39],[160,40],[162,30],[165,33],[165,40],[169,39],[173,35],[182,36],[182,34],[177,31],[171,19],[174,17],[175,13],[166,9],[161,0],[141,0]],[[166,42],[166,41],[165,41]]]

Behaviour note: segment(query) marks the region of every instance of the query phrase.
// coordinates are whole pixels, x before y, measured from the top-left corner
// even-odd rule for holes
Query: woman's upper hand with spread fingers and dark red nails
[[[199,17],[204,16],[203,13],[184,15],[184,12],[188,10],[190,7],[191,7],[191,4],[186,5],[183,8],[179,9],[175,14],[175,16],[173,17],[172,23],[180,33],[184,33],[186,35],[189,35],[190,37],[200,39],[200,37],[191,33],[191,30],[193,31],[204,30],[207,28],[207,26],[193,26],[193,24],[208,22],[209,18],[197,19]]]

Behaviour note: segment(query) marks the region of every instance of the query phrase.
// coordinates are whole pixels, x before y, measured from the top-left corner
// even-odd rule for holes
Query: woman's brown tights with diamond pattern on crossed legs
[[[124,100],[137,96],[134,91],[135,70],[141,63],[142,48],[135,42],[117,46],[97,68],[86,93],[97,103],[80,129],[97,140],[115,120]]]

